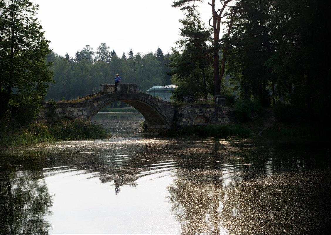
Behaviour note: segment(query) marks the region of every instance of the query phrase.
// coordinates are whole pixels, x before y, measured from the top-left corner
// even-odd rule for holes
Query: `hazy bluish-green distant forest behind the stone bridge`
[[[71,100],[100,90],[100,84],[113,84],[118,73],[122,83],[135,83],[138,90],[146,92],[152,86],[171,84],[170,71],[166,64],[169,63],[169,54],[164,55],[157,48],[153,54],[128,52],[128,58],[123,52],[118,56],[106,43],[102,43],[96,52],[89,45],[77,51],[74,57],[68,53],[65,57],[52,53],[48,62],[53,65],[55,83],[49,83],[49,88],[44,101],[49,99]]]

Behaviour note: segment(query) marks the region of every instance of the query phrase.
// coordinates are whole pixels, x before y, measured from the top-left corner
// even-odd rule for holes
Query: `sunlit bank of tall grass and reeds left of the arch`
[[[0,147],[36,145],[42,142],[62,140],[91,140],[108,137],[107,131],[96,122],[82,118],[62,121],[53,125],[32,122],[25,126],[15,120],[4,118],[0,121]]]

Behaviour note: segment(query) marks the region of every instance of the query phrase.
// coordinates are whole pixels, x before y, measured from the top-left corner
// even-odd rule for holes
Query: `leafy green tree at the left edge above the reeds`
[[[28,0],[0,0],[0,117],[9,108],[24,108],[32,117],[52,81],[37,9]]]

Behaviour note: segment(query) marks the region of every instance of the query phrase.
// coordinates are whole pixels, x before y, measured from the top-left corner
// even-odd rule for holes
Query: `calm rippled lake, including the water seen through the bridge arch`
[[[329,145],[147,136],[0,149],[0,234],[327,234]]]

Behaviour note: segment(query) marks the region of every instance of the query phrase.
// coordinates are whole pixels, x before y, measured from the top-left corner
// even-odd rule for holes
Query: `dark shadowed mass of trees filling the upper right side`
[[[227,73],[242,97],[329,119],[329,2],[240,0],[233,12]]]

